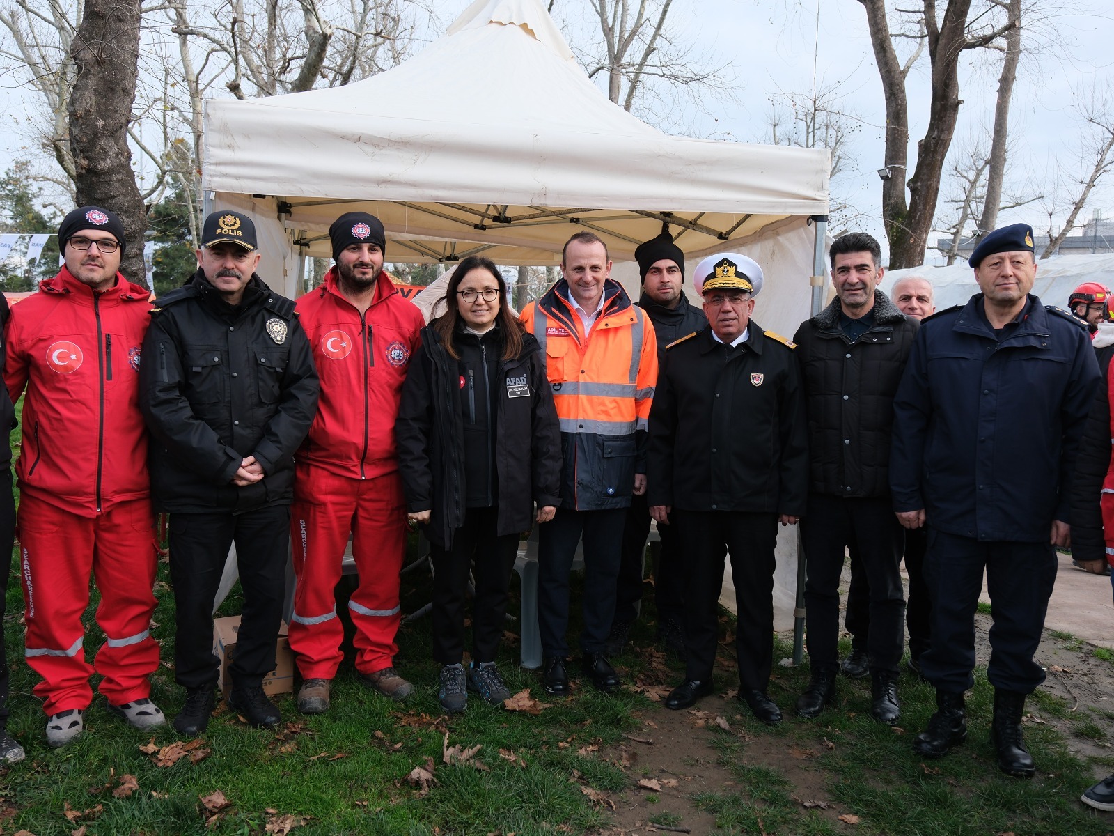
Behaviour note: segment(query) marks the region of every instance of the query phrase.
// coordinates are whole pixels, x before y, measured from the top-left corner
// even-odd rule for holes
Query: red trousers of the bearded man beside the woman
[[[373,479],[336,476],[299,466],[291,506],[294,614],[290,647],[303,679],[332,679],[344,628],[335,587],[349,534],[360,586],[349,612],[355,624],[355,669],[374,673],[394,663],[399,630],[399,571],[405,554],[405,503],[398,472]]]

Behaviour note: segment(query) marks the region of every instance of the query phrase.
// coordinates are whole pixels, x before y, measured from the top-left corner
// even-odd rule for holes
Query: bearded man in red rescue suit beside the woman
[[[290,647],[302,674],[297,708],[303,713],[329,708],[343,658],[334,587],[349,534],[360,573],[348,604],[355,624],[356,673],[394,700],[412,690],[394,670],[405,551],[394,418],[424,320],[383,272],[387,239],[379,218],[364,212],[341,215],[329,236],[335,265],[296,305],[321,380],[317,415],[295,456],[291,507],[297,591]]]

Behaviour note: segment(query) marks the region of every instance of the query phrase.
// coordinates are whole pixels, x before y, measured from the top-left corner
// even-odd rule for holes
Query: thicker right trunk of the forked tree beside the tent
[[[926,0],[926,14],[934,0]],[[912,268],[925,262],[925,247],[936,217],[940,193],[940,175],[951,147],[959,118],[959,57],[967,46],[967,13],[971,0],[949,0],[939,28],[935,14],[929,17],[928,52],[932,61],[932,104],[928,130],[918,143],[917,168],[909,178],[909,212],[905,218],[907,234],[897,246],[890,245],[890,270]]]

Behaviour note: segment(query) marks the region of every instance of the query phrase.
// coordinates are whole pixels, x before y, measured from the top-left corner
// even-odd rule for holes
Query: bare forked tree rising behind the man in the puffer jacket
[[[947,0],[942,14],[938,0],[924,0],[916,10],[897,9],[902,25],[891,31],[885,0],[860,0],[867,11],[870,39],[886,98],[886,167],[889,178],[882,184],[882,218],[890,242],[890,266],[915,266],[925,260],[925,249],[932,229],[944,164],[951,146],[959,117],[959,59],[964,51],[986,47],[1017,26],[1004,22],[991,12],[1001,3],[987,0],[979,13],[973,13],[973,0]],[[913,29],[912,27],[916,27]],[[906,77],[912,60],[902,64],[895,41],[911,39],[928,49],[931,61],[932,98],[928,127],[918,142],[917,165],[908,182],[909,116]],[[917,55],[916,49],[913,55]],[[909,192],[908,203],[906,189]]]

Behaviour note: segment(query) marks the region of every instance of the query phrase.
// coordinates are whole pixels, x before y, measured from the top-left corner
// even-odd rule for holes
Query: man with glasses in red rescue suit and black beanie
[[[65,266],[12,309],[4,369],[13,400],[27,390],[16,466],[25,655],[42,677],[35,693],[51,746],[84,730],[94,671],[108,708],[131,726],[166,721],[149,699],[155,517],[138,405],[149,293],[117,272],[124,227],[111,212],[70,212],[58,245]],[[90,574],[106,639],[94,665],[81,625]]]

